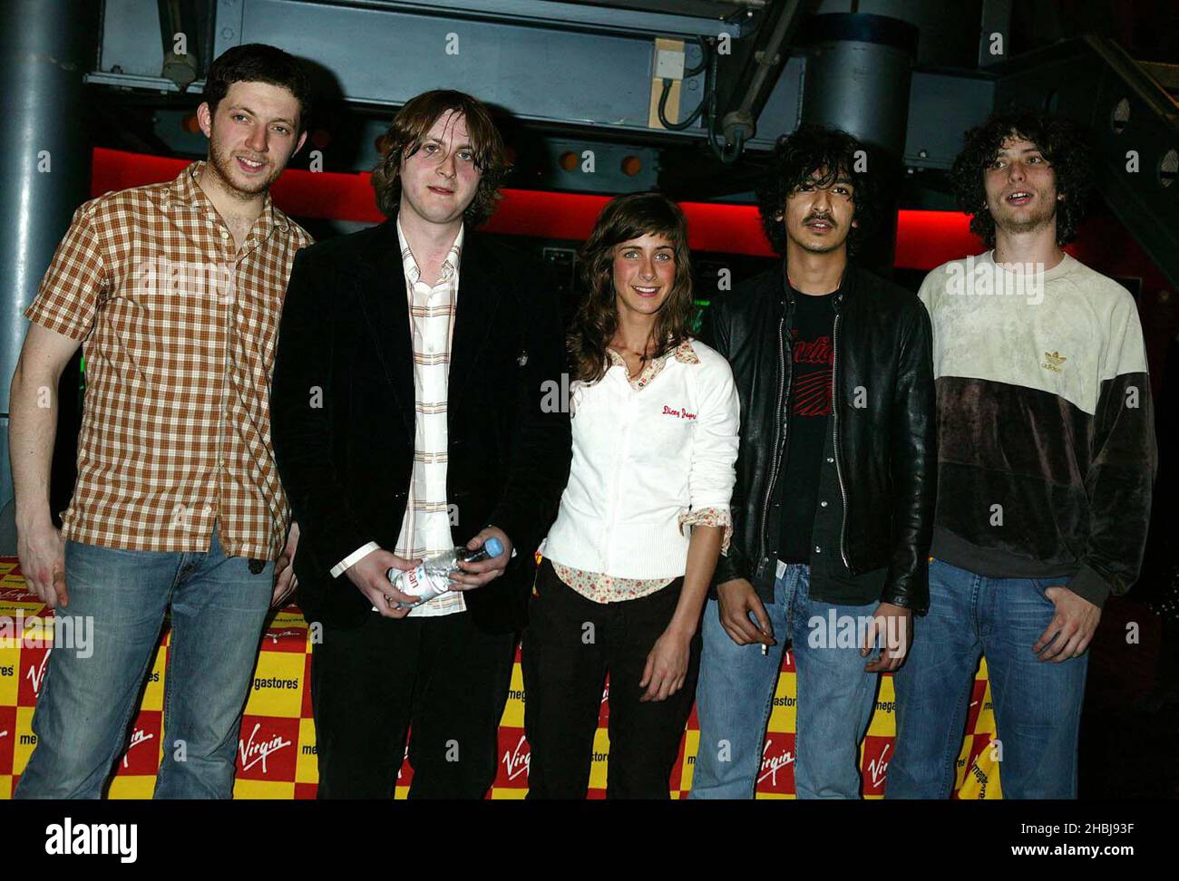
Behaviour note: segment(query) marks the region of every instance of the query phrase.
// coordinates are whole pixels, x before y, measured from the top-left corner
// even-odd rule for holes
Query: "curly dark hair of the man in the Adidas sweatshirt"
[[[987,247],[995,246],[995,220],[987,208],[986,171],[1005,140],[1017,135],[1040,148],[1056,175],[1056,244],[1076,238],[1076,227],[1093,188],[1093,170],[1085,132],[1072,120],[1032,110],[993,113],[986,122],[966,133],[966,146],[954,160],[950,177],[959,206],[970,216],[970,232]]]

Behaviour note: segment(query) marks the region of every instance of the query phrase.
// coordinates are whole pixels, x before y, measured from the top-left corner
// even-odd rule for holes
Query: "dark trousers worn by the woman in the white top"
[[[647,655],[671,623],[684,579],[639,600],[594,603],[541,562],[521,649],[529,799],[584,799],[593,737],[610,674],[607,799],[667,799],[672,766],[692,711],[700,632],[684,687],[640,703]],[[592,627],[591,627],[592,625]]]

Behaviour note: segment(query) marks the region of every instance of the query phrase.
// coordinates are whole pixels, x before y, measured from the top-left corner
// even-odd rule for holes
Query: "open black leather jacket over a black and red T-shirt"
[[[880,600],[923,614],[936,475],[929,316],[903,287],[847,272],[832,340],[841,557],[855,575],[887,568]],[[702,332],[732,366],[742,415],[733,535],[712,581],[745,578],[763,601],[773,597],[766,521],[785,461],[793,307],[783,261],[718,297]]]

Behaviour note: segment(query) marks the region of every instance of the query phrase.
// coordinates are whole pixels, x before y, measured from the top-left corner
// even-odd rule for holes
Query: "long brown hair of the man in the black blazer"
[[[430,128],[447,111],[461,113],[475,152],[475,167],[482,172],[475,198],[463,212],[469,226],[479,226],[495,211],[500,181],[508,171],[507,150],[487,105],[465,92],[439,88],[410,98],[397,111],[389,130],[381,137],[384,157],[373,170],[371,184],[376,204],[386,217],[394,217],[401,206],[401,163],[416,153]]]

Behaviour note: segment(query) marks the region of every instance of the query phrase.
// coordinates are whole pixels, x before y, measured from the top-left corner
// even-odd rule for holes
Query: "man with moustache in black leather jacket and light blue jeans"
[[[742,428],[732,543],[703,624],[692,797],[752,797],[785,748],[763,738],[786,642],[797,796],[858,797],[877,674],[901,664],[928,607],[930,325],[915,294],[849,263],[870,221],[869,163],[844,132],[783,138],[758,200],[785,259],[706,318]]]

